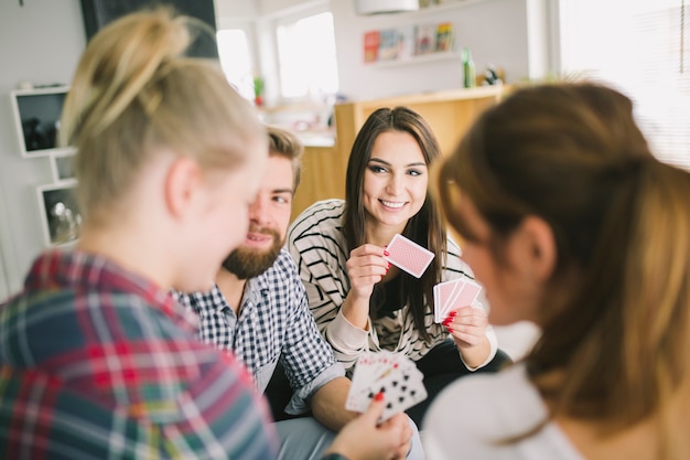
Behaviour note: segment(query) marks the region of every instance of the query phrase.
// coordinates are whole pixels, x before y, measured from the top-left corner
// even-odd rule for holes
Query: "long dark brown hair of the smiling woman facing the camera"
[[[374,141],[381,132],[402,131],[411,135],[419,143],[424,162],[430,165],[440,158],[439,142],[429,124],[417,113],[407,107],[379,108],[362,126],[355,138],[345,178],[346,204],[343,217],[343,233],[348,250],[353,250],[365,240],[364,174],[371,158]],[[428,248],[436,255],[430,267],[420,278],[401,272],[402,296],[410,304],[414,325],[424,341],[431,338],[424,325],[425,303],[433,309],[433,285],[441,280],[444,264],[446,236],[436,204],[429,197],[421,210],[411,217],[402,233],[406,237]],[[375,289],[381,289],[379,285]],[[376,311],[371,311],[377,317]]]

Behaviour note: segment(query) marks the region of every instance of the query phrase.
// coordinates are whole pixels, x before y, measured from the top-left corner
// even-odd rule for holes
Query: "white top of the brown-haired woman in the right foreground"
[[[463,377],[448,386],[424,417],[424,452],[433,460],[585,460],[556,422],[517,442],[547,417],[524,364],[497,374]]]

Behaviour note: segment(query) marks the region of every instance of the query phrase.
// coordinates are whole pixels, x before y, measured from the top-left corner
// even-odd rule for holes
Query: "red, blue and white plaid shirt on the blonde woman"
[[[48,252],[0,307],[0,458],[273,459],[251,377],[165,291]]]

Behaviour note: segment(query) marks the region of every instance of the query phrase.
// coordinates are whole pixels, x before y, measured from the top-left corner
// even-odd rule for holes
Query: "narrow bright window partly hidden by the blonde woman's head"
[[[254,61],[245,29],[224,29],[216,33],[220,66],[228,82],[242,97],[254,100]]]

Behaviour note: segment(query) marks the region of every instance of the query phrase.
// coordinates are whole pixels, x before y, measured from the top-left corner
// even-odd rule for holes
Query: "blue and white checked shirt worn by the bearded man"
[[[309,400],[326,383],[345,375],[323,340],[309,310],[304,286],[287,250],[273,265],[247,280],[239,318],[223,292],[175,293],[200,315],[200,339],[233,352],[254,375],[263,393],[280,361],[294,394],[287,414],[309,410]]]

